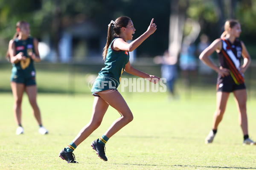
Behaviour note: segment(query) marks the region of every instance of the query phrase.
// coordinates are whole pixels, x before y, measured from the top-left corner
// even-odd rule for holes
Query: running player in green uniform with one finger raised
[[[109,129],[99,138],[92,142],[92,147],[96,150],[101,159],[107,161],[105,156],[105,144],[111,136],[118,132],[122,127],[127,125],[133,120],[133,114],[130,108],[125,102],[122,95],[116,90],[119,85],[120,78],[123,71],[133,74],[138,77],[148,78],[151,82],[157,83],[159,77],[152,76],[143,73],[130,65],[129,51],[136,49],[144,40],[146,40],[151,34],[156,31],[157,26],[151,20],[147,31],[138,37],[136,40],[127,43],[128,40],[132,40],[135,33],[134,25],[129,17],[119,17],[115,21],[111,21],[108,25],[108,38],[103,51],[103,58],[105,59],[105,67],[99,72],[99,76],[93,84],[94,102],[93,113],[90,122],[85,125],[73,141],[67,145],[60,152],[60,157],[66,160],[68,163],[77,163],[74,159],[73,150],[81,144],[94,130],[96,130],[102,122],[108,106],[112,106],[121,114],[121,117],[116,119],[109,127]],[[112,30],[114,34],[112,34]],[[113,39],[113,37],[115,37]],[[105,86],[100,86],[104,83]]]

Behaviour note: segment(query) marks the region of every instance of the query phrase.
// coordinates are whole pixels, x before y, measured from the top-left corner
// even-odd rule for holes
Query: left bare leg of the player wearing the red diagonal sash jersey
[[[215,129],[215,130],[218,128],[218,125],[222,120],[224,111],[226,109],[229,93],[219,91],[217,92],[216,96],[217,96],[217,105],[216,105],[216,111],[213,115],[213,122],[212,122],[212,129]]]

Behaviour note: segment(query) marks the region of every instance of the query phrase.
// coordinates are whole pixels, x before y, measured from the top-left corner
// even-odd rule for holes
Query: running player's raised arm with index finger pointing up
[[[154,31],[157,30],[157,26],[155,23],[153,23],[154,18],[151,20],[150,25],[148,26],[147,31],[145,31],[144,34],[142,34],[140,37],[138,37],[136,40],[131,42],[130,44],[125,42],[122,38],[119,38],[113,42],[113,47],[117,48],[116,50],[122,50],[122,51],[134,51],[143,41],[145,41],[151,34],[154,33]]]

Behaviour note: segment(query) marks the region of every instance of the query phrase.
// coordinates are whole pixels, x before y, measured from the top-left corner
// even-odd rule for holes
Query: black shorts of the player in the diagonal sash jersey
[[[222,92],[233,92],[236,90],[241,90],[241,89],[246,89],[245,84],[236,84],[236,82],[233,80],[231,75],[226,76],[226,77],[221,77],[221,75],[218,75],[217,79],[217,91],[222,91]]]

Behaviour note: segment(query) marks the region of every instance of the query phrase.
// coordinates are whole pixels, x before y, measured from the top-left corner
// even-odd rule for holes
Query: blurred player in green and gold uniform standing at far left
[[[41,113],[36,102],[37,86],[35,82],[35,68],[33,62],[40,62],[38,52],[38,40],[29,36],[30,27],[26,21],[18,21],[16,33],[9,42],[6,57],[12,63],[11,87],[14,96],[14,116],[17,122],[16,134],[23,133],[21,126],[21,102],[23,92],[29,97],[30,105],[39,125],[39,133],[47,134],[48,131],[42,126]]]

